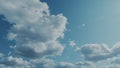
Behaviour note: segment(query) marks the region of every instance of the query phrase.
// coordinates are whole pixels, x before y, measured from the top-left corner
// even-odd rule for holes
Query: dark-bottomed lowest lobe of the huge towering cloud
[[[38,58],[48,55],[61,55],[63,49],[64,47],[58,42],[27,43],[17,46],[15,53],[29,58]]]

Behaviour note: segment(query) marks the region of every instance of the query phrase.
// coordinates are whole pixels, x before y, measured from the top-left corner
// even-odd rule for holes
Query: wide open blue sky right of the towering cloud
[[[66,33],[67,38],[78,43],[114,44],[120,40],[118,0],[43,1],[48,3],[51,13],[63,13],[68,18],[71,32]]]

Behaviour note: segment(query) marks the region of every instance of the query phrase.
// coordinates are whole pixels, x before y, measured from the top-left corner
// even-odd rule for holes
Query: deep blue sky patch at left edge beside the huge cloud
[[[13,45],[13,41],[8,41],[7,34],[10,30],[10,24],[6,21],[3,15],[0,15],[0,52],[7,54],[10,51],[10,45]]]

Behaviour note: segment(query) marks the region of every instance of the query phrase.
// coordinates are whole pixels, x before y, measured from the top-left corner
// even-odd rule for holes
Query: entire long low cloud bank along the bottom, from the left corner
[[[5,56],[0,59],[0,68],[95,68],[92,62],[55,62],[52,59],[37,58],[23,59],[20,57]]]

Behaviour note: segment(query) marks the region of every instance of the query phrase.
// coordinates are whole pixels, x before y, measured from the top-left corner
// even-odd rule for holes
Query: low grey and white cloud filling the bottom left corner
[[[9,56],[0,59],[0,66],[2,68],[29,68],[29,63],[22,58]]]

